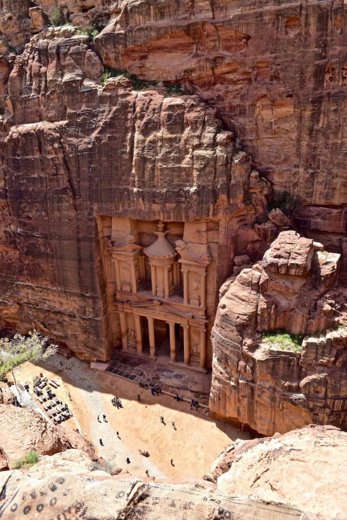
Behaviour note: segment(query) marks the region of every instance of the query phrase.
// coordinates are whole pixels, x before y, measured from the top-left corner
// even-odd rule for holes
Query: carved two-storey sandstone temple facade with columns
[[[207,279],[213,263],[207,224],[182,223],[181,238],[174,240],[177,235],[170,235],[159,221],[157,230],[150,233],[157,239],[147,245],[141,243],[135,222],[113,220],[105,250],[108,263],[113,264],[108,273],[115,280],[112,305],[119,317],[122,349],[157,358],[162,355],[160,344],[166,342],[171,362],[183,361],[205,370],[210,319]],[[142,231],[142,235],[146,233]],[[182,344],[183,359],[178,359]]]

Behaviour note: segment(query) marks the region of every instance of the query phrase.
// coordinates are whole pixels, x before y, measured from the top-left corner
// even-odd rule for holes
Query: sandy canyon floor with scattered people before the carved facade
[[[202,408],[191,410],[188,402],[177,402],[169,395],[152,396],[149,389],[110,373],[92,371],[88,363],[77,358],[55,356],[49,362],[25,363],[16,369],[17,382],[27,381],[37,402],[32,383],[40,372],[60,384],[56,394],[73,413],[62,424],[78,428],[95,445],[99,457],[144,479],[146,470],[156,479],[201,478],[233,440],[250,438],[247,432],[210,419]],[[194,398],[192,392],[177,392]],[[122,400],[123,408],[112,406],[114,396]],[[107,422],[102,419],[104,414]],[[165,425],[160,422],[161,415]],[[140,449],[147,450],[150,457],[142,456]]]

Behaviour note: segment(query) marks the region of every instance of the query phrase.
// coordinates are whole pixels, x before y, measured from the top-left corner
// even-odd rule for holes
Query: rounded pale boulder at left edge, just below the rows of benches
[[[89,458],[96,458],[94,447],[80,434],[68,427],[54,426],[29,408],[0,405],[0,431],[1,447],[10,460],[31,450],[53,455],[69,448],[81,449]]]

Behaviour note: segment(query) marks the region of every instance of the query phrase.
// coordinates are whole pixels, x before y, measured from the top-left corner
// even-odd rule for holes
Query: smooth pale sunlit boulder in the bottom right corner
[[[347,511],[346,465],[347,433],[310,425],[239,441],[221,454],[212,474],[225,495],[284,500],[311,520],[341,520]]]

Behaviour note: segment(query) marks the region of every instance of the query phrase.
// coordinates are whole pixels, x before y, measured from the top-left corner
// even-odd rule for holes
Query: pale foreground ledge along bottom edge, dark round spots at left
[[[248,517],[255,520],[261,508],[269,520],[307,520],[302,511],[290,504],[229,498],[201,484],[143,483],[137,478],[105,478],[104,472],[85,472],[80,476],[76,467],[73,473],[61,472],[60,465],[56,470],[52,466],[48,468],[49,475],[38,472],[36,476],[34,467],[25,474],[0,473],[0,486],[5,491],[0,498],[0,511],[6,518],[12,520],[25,515],[31,520],[43,513],[45,518],[61,516],[67,520],[81,517],[95,520],[243,520]]]

